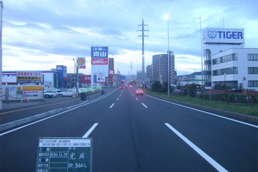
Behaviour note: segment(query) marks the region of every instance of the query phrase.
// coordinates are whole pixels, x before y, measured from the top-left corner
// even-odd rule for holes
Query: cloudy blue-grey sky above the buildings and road
[[[74,72],[73,58],[86,57],[90,45],[108,45],[115,69],[126,75],[142,68],[142,19],[145,66],[155,54],[175,54],[178,75],[201,70],[200,19],[207,27],[245,28],[245,48],[258,48],[257,0],[3,0],[3,71],[50,70],[56,65]]]

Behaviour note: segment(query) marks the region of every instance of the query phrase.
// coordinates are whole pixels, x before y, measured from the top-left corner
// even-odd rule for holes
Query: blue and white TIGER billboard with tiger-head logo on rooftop
[[[230,45],[244,44],[244,29],[205,28],[202,30],[202,43]]]

